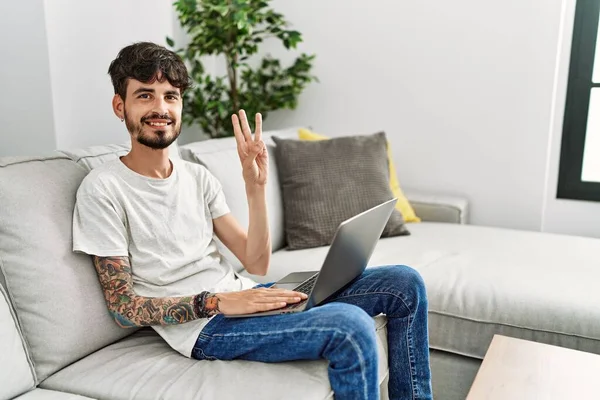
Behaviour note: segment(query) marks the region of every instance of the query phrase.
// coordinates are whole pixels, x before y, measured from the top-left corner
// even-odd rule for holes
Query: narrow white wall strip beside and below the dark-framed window
[[[545,203],[543,207],[542,230],[545,232],[566,233],[600,237],[600,203],[556,198],[560,146],[562,140],[563,117],[569,73],[569,57],[573,36],[575,0],[564,0],[561,18],[560,42],[557,46],[555,94],[552,105],[550,151],[548,157]]]

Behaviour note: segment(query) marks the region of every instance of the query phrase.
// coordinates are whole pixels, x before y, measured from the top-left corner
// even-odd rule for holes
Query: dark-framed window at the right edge
[[[557,197],[600,201],[600,0],[578,0]]]

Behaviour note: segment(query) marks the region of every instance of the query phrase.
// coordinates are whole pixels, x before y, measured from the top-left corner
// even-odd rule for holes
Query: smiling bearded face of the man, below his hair
[[[168,80],[143,83],[129,79],[123,116],[127,130],[139,143],[164,149],[181,133],[180,90]]]

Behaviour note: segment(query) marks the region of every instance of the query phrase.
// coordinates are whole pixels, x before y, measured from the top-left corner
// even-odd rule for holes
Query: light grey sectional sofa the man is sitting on
[[[272,136],[267,188],[273,255],[266,276],[318,269],[327,247],[285,248]],[[0,158],[0,400],[328,399],[325,361],[196,361],[149,328],[109,317],[91,258],[72,252],[75,193],[91,168],[128,145]],[[233,138],[170,149],[208,168],[232,213],[248,223]],[[369,266],[406,264],[424,278],[436,399],[464,399],[494,334],[600,354],[600,240],[468,224],[465,199],[407,191],[422,219],[410,236],[380,239]],[[223,256],[244,274],[221,244]],[[385,316],[375,317],[381,397],[387,398]]]

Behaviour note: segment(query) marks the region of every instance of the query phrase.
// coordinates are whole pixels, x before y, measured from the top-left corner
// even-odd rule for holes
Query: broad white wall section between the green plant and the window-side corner
[[[561,3],[275,0],[321,83],[265,128],[385,130],[404,187],[468,197],[475,224],[539,230]]]

